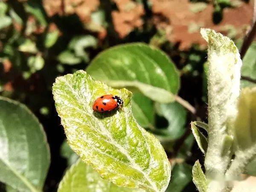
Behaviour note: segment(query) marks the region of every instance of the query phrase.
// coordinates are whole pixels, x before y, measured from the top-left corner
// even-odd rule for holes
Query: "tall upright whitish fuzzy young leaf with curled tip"
[[[230,151],[223,156],[224,137],[232,136],[240,91],[241,58],[230,38],[211,29],[201,29],[208,42],[208,148],[206,175],[222,177],[230,163]],[[210,177],[210,176],[209,176]],[[209,184],[214,191],[216,185]]]

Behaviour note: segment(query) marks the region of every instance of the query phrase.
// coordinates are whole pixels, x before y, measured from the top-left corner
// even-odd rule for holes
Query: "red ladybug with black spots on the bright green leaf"
[[[113,111],[114,109],[121,107],[122,104],[123,101],[119,96],[103,95],[98,97],[93,103],[93,111]]]

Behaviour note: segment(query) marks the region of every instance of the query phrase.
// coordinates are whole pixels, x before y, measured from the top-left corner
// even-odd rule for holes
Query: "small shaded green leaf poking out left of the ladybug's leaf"
[[[61,157],[67,159],[68,166],[73,165],[79,159],[79,156],[72,151],[67,141],[64,141],[61,145]]]

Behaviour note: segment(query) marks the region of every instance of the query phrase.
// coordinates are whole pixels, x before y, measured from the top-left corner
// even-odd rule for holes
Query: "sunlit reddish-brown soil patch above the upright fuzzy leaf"
[[[157,28],[166,30],[167,39],[179,42],[180,49],[183,50],[191,47],[191,44],[206,45],[199,33],[201,27],[211,28],[225,35],[228,35],[230,29],[235,29],[236,36],[243,35],[246,26],[250,25],[253,6],[244,1],[240,3],[235,9],[225,8],[223,20],[218,25],[212,21],[212,4],[207,4],[202,11],[192,12],[194,3],[189,0],[152,0],[152,12]]]

